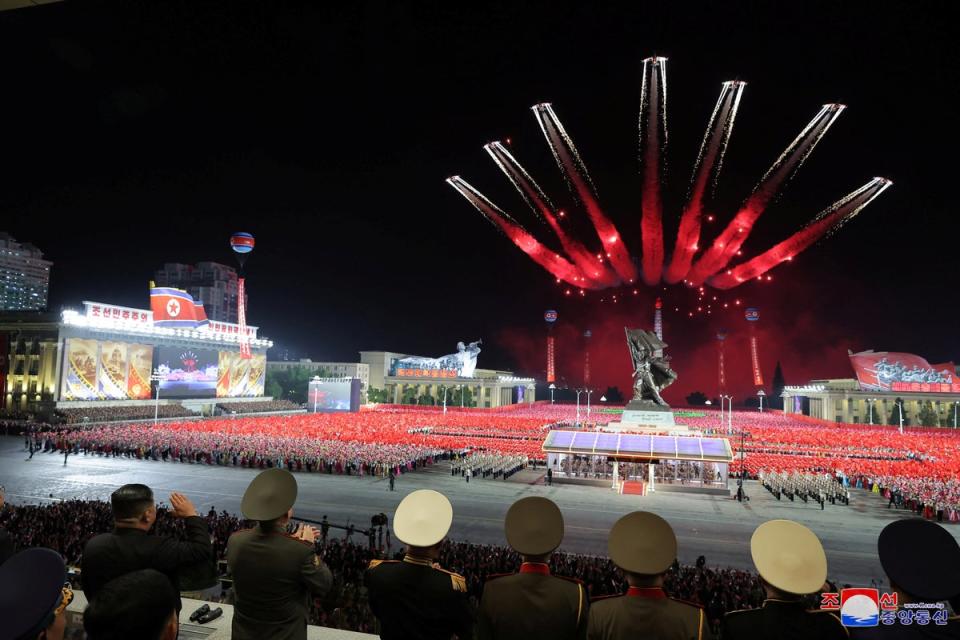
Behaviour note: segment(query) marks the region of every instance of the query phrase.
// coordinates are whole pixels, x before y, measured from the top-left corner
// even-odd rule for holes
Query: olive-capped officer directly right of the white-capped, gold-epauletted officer
[[[522,498],[507,511],[504,530],[523,564],[519,573],[494,576],[484,586],[477,640],[586,638],[589,603],[583,585],[550,575],[550,554],[563,540],[560,508],[547,498]]]

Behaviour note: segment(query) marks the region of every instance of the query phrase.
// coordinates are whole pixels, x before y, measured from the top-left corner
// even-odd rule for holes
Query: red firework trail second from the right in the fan
[[[780,188],[800,168],[845,108],[842,104],[826,104],[820,109],[820,112],[767,170],[730,224],[714,240],[713,245],[693,265],[687,275],[688,284],[699,286],[712,274],[726,268],[750,236],[754,223],[777,196]]]

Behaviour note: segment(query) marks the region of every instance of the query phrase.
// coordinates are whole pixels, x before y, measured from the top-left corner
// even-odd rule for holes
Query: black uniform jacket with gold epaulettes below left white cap
[[[407,557],[372,561],[366,582],[383,640],[470,638],[473,612],[463,576]]]

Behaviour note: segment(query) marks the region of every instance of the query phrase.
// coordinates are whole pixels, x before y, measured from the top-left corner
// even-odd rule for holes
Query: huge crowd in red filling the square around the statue
[[[245,403],[235,403],[238,406]],[[231,405],[232,406],[232,405]],[[126,408],[83,409],[91,422]],[[152,408],[151,408],[152,410]],[[96,415],[92,415],[91,412]],[[79,415],[79,414],[78,414]],[[173,421],[157,429],[135,424],[76,430],[52,427],[35,435],[45,450],[69,447],[73,453],[126,455],[253,468],[285,467],[387,475],[429,463],[449,452],[517,456],[544,461],[543,439],[552,428],[578,428],[576,408],[535,403],[509,409],[450,409],[383,405],[359,413],[240,416],[204,421]],[[615,414],[591,416],[596,420]],[[581,417],[585,417],[581,409]],[[919,513],[944,522],[960,521],[960,431],[872,425],[813,424],[780,412],[706,410],[680,420],[695,432],[727,437],[736,463],[729,474],[758,478],[778,474],[830,474],[850,478],[850,488],[898,492],[905,503],[922,505]],[[74,418],[76,419],[76,416]],[[580,424],[579,428],[587,428]],[[825,430],[829,430],[829,437]],[[606,459],[567,461],[555,469],[571,475],[607,477]],[[677,467],[659,474],[662,481],[685,481],[688,472],[700,481],[722,482],[716,469]],[[682,473],[681,473],[682,472]],[[622,474],[621,474],[622,475]],[[692,479],[693,476],[690,477]]]

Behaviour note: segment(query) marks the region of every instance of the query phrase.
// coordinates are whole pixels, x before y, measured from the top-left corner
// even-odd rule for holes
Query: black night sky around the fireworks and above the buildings
[[[542,379],[543,311],[555,308],[560,375],[579,384],[590,328],[594,385],[626,388],[622,328],[650,324],[655,294],[565,299],[443,180],[463,176],[552,240],[481,148],[509,136],[593,242],[530,113],[550,101],[639,254],[639,80],[657,54],[670,59],[668,250],[725,80],[748,85],[707,238],[826,102],[849,108],[745,255],[871,177],[894,180],[772,282],[725,296],[760,308],[768,383],[778,360],[789,383],[850,376],[847,349],[956,360],[948,6],[194,0],[0,13],[0,230],[55,262],[54,310],[146,307],[163,262],[230,263],[227,239],[243,230],[257,238],[248,321],[301,356],[442,355],[482,338],[481,367]],[[731,387],[748,393],[742,311],[689,319],[689,292],[659,293],[680,374],[668,400],[716,392],[718,327],[731,336]]]

